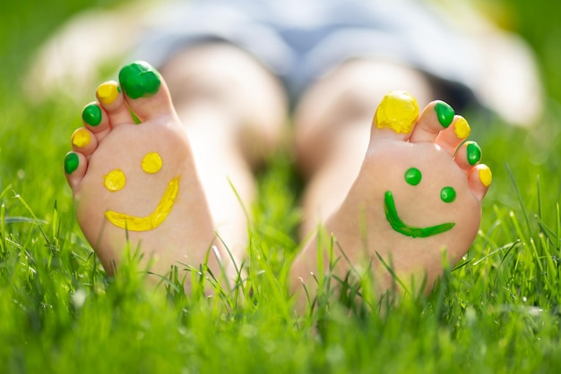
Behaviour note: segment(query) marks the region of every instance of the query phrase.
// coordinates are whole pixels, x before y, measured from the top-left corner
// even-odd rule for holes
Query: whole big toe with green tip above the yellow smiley
[[[119,83],[126,103],[142,122],[175,114],[168,86],[150,64],[137,61],[125,65],[119,72]]]

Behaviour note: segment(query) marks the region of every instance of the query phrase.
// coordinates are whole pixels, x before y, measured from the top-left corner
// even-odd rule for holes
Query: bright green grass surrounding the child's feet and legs
[[[62,159],[80,107],[31,106],[19,87],[34,47],[85,0],[0,5],[0,372],[557,372],[561,367],[561,73],[551,2],[509,3],[548,89],[527,132],[471,120],[494,172],[480,234],[428,297],[387,311],[322,300],[302,316],[282,286],[297,251],[289,157],[260,176],[240,297],[142,284],[134,256],[108,278],[73,217]],[[506,3],[506,2],[505,2]],[[98,2],[107,5],[108,2]],[[556,12],[557,10],[557,12]],[[249,285],[252,293],[249,293]],[[365,295],[366,302],[370,299]]]

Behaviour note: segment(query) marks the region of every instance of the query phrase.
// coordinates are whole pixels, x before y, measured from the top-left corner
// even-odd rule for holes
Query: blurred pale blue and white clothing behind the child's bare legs
[[[473,100],[477,56],[414,1],[201,0],[176,2],[160,14],[133,55],[157,67],[196,43],[224,41],[254,55],[292,98],[345,60],[375,57],[425,72],[455,105]]]

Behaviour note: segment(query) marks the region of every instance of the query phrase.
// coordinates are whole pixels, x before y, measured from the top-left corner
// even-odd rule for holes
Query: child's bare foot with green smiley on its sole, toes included
[[[358,177],[325,224],[336,241],[335,275],[371,267],[384,293],[392,276],[379,255],[406,286],[414,276],[416,292],[424,281],[429,290],[442,273],[443,251],[451,264],[461,259],[479,230],[481,200],[491,183],[488,166],[479,164],[479,146],[464,142],[469,133],[468,123],[444,102],[430,103],[419,116],[409,94],[384,97]],[[319,266],[327,268],[330,241],[324,239]],[[316,235],[296,259],[295,287],[298,278],[308,290],[315,287],[317,244]]]

